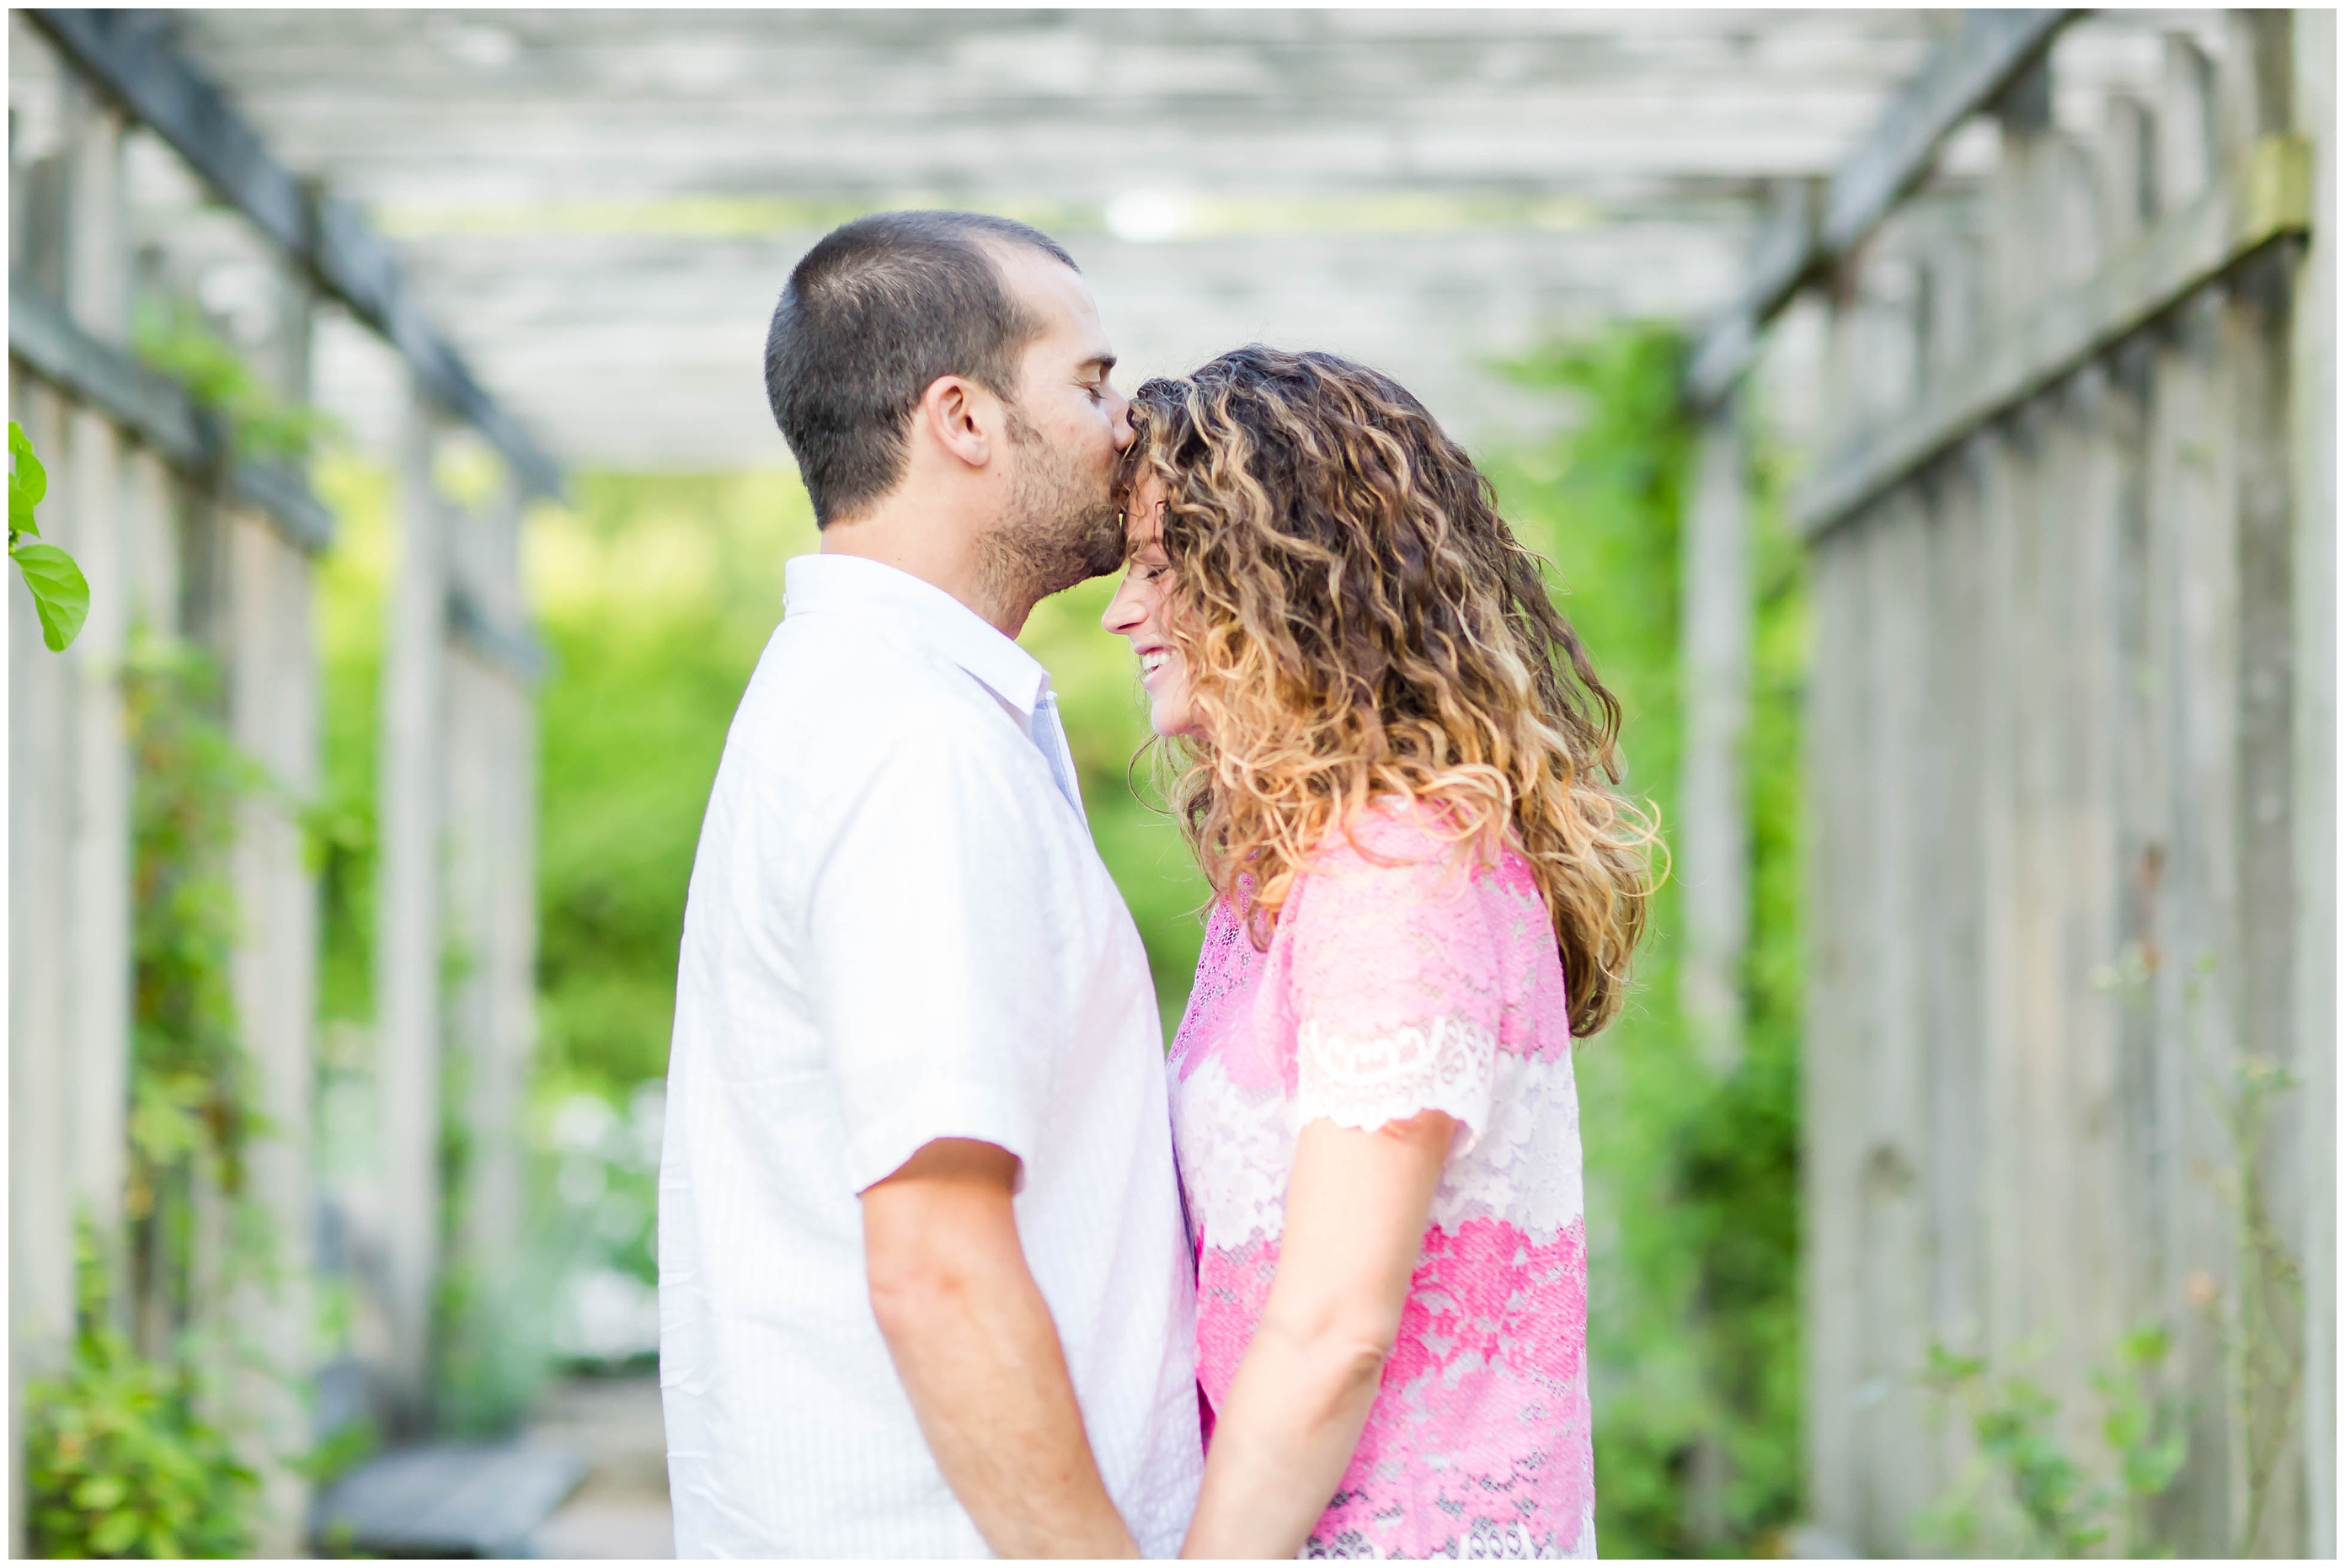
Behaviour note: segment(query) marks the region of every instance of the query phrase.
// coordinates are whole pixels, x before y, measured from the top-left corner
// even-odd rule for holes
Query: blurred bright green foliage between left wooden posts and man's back
[[[610,1099],[666,1071],[685,884],[725,731],[816,546],[781,473],[577,480],[539,513],[539,1059]]]

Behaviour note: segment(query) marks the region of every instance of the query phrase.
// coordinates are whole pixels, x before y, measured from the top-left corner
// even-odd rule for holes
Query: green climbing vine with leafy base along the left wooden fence
[[[272,785],[230,741],[202,652],[136,638],[122,698],[136,766],[124,1235],[84,1226],[73,1359],[28,1390],[30,1526],[52,1556],[239,1556],[260,1488],[206,1413],[209,1378],[270,1364],[218,1305],[270,1284],[277,1249],[246,1184],[270,1125],[230,984],[227,855],[239,809]],[[218,1235],[199,1259],[206,1216]]]

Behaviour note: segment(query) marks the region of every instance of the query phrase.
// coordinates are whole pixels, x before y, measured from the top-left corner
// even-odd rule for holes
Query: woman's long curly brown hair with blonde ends
[[[1165,633],[1203,736],[1172,802],[1212,888],[1243,877],[1255,945],[1309,855],[1405,795],[1484,863],[1520,846],[1571,1034],[1611,1022],[1656,830],[1616,790],[1620,703],[1489,480],[1414,396],[1332,354],[1222,354],[1140,387],[1133,427],[1123,478],[1163,483]]]

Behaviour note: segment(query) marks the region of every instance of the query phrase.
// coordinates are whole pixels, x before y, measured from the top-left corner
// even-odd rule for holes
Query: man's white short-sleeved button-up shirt
[[[680,1556],[985,1556],[922,1441],[858,1193],[1020,1160],[1018,1238],[1140,1549],[1196,1507],[1194,1275],[1156,996],[1051,680],[959,600],[788,565],[692,865],[659,1163]]]

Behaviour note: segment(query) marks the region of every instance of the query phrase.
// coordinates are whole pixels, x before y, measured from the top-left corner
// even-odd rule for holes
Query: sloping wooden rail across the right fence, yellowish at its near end
[[[2157,223],[2099,274],[2052,295],[2019,330],[1993,340],[1888,429],[1860,436],[1792,499],[1792,523],[1817,534],[1930,462],[1965,434],[2024,403],[2129,333],[2148,326],[2263,246],[2312,220],[2312,152],[2268,136],[2207,195]]]

